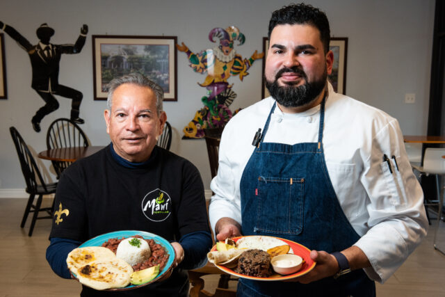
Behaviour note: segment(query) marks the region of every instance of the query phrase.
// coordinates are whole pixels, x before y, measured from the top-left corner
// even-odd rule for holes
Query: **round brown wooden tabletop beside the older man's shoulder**
[[[88,147],[60,147],[51,150],[44,150],[38,154],[40,159],[51,161],[74,162],[86,156],[90,156],[95,152],[102,150],[104,146],[88,146]]]

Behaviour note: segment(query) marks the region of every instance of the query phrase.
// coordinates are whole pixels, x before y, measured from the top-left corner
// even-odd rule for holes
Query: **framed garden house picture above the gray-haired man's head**
[[[95,100],[106,100],[115,77],[138,72],[164,90],[164,101],[177,101],[176,36],[92,35]]]

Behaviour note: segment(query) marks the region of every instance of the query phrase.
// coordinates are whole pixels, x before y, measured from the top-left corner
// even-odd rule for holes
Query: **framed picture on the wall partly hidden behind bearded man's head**
[[[269,39],[263,38],[263,89],[261,90],[262,98],[269,97],[269,91],[266,88],[266,81],[264,78],[264,69],[266,67],[266,58],[269,48]],[[331,38],[329,43],[329,49],[334,53],[334,65],[332,65],[332,74],[328,76],[330,83],[335,92],[345,94],[346,93],[346,57],[348,54],[348,38],[337,37]]]

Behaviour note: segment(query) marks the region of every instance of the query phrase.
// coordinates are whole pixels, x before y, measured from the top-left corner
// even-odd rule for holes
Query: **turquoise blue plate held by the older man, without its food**
[[[175,249],[170,244],[170,242],[163,239],[161,236],[158,236],[156,234],[149,233],[149,232],[136,231],[136,230],[123,230],[123,231],[110,232],[110,233],[96,236],[88,241],[85,241],[84,243],[82,243],[79,246],[79,248],[86,248],[87,246],[102,246],[102,243],[104,243],[105,241],[108,241],[108,239],[113,239],[113,238],[122,239],[122,237],[128,238],[128,237],[131,237],[134,235],[143,236],[144,239],[154,239],[154,241],[156,243],[159,243],[161,246],[163,246],[163,248],[165,248],[165,250],[168,252],[168,255],[169,255],[167,263],[165,264],[162,271],[160,271],[159,274],[156,276],[156,278],[154,278],[154,280],[146,282],[145,284],[139,284],[138,286],[130,284],[129,286],[124,287],[124,288],[108,289],[108,290],[104,290],[104,291],[124,291],[124,290],[136,289],[139,287],[143,287],[143,286],[146,286],[147,284],[151,284],[152,282],[156,282],[156,280],[159,280],[161,278],[161,276],[163,276],[165,273],[168,273],[168,271],[170,271],[170,269],[173,268],[173,262],[175,261]],[[72,275],[75,278],[77,278],[74,273],[72,273]]]

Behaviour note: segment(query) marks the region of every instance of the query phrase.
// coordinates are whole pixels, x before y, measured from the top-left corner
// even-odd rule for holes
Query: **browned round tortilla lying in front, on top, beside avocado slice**
[[[93,261],[77,269],[77,279],[96,290],[127,287],[133,268],[122,259]]]

